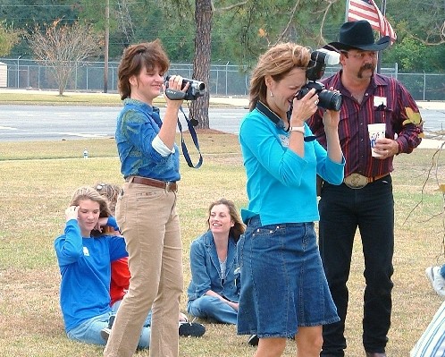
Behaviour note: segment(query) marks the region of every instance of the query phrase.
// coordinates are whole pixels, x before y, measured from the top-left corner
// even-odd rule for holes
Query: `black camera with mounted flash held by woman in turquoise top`
[[[341,106],[341,94],[328,90],[324,87],[323,83],[318,81],[323,77],[326,64],[339,64],[340,54],[337,52],[329,51],[321,48],[315,50],[311,54],[311,60],[307,65],[306,77],[309,80],[303,88],[298,90],[296,94],[297,99],[301,99],[311,89],[315,89],[315,93],[318,95],[318,106],[324,109],[330,109],[339,111]]]

